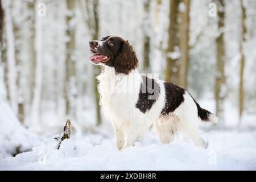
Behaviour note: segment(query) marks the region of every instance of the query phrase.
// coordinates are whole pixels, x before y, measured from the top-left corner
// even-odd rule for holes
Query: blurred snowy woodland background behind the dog
[[[40,134],[68,118],[78,133],[101,125],[89,40],[115,35],[140,72],[208,103],[218,126],[229,115],[241,125],[256,107],[255,10],[255,0],[0,0],[0,100]]]

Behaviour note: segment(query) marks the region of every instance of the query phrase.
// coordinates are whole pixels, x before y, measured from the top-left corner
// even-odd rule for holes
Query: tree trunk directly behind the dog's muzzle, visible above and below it
[[[86,11],[88,15],[87,26],[91,32],[92,39],[98,40],[99,33],[99,19],[98,19],[98,0],[86,0]],[[92,8],[90,8],[92,7]],[[101,113],[100,113],[100,94],[98,94],[97,86],[98,82],[96,76],[98,75],[99,69],[93,67],[93,88],[94,88],[94,100],[96,105],[96,125],[101,124]]]

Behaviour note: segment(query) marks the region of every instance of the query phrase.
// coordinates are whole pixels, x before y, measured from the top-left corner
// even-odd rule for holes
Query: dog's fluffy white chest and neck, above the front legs
[[[129,75],[116,75],[114,69],[105,68],[97,79],[100,81],[100,105],[109,121],[115,121],[117,118],[128,120],[138,112],[135,104],[138,101],[142,78],[137,71]]]

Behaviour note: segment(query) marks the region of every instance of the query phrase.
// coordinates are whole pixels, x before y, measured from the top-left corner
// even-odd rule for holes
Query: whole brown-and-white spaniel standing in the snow
[[[90,61],[101,65],[97,76],[100,105],[113,125],[118,150],[132,146],[154,125],[162,143],[170,143],[184,131],[196,146],[202,146],[199,121],[217,122],[183,88],[141,75],[138,58],[128,41],[106,36],[90,41]]]

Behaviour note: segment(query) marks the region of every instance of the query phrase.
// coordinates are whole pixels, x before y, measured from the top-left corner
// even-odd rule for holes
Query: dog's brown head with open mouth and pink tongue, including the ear
[[[100,41],[90,41],[89,44],[93,53],[90,61],[93,64],[114,67],[115,73],[126,75],[138,67],[138,59],[133,47],[118,36],[106,36]]]

